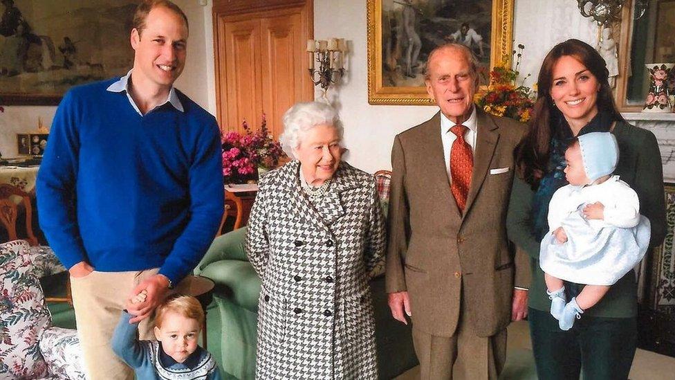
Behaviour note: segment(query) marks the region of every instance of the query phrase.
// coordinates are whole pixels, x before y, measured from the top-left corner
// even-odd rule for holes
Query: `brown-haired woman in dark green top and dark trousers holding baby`
[[[551,316],[539,243],[548,233],[548,203],[567,181],[564,152],[575,136],[611,132],[618,141],[614,174],[633,188],[640,212],[651,221],[650,246],[663,242],[663,171],[654,134],[629,125],[614,105],[607,66],[589,44],[568,39],[544,58],[530,132],[517,147],[508,212],[508,236],[530,256],[528,314],[540,379],[627,379],[637,342],[637,284],[630,271],[597,305],[563,331]],[[582,289],[567,283],[567,299]]]

